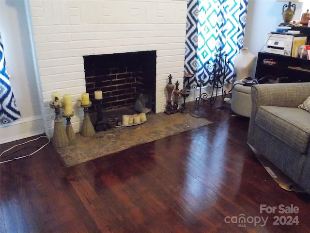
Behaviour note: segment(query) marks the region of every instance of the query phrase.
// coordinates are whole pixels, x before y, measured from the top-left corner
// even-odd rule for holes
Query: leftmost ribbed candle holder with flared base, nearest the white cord
[[[54,119],[54,132],[53,132],[53,146],[54,147],[65,147],[69,144],[67,133],[62,124],[62,118],[60,116],[60,105],[55,105],[55,101],[49,102],[49,107],[55,109]]]

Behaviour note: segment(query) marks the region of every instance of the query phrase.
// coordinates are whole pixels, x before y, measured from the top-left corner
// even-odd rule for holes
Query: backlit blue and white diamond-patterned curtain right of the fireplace
[[[190,85],[211,85],[216,55],[227,55],[224,83],[233,83],[234,56],[243,47],[248,0],[189,0],[187,6],[185,73]],[[209,67],[207,66],[209,62]]]

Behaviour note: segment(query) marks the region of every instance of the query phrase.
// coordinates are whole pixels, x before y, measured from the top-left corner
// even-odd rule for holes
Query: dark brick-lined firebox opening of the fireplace
[[[147,94],[155,112],[156,51],[139,51],[83,56],[86,92],[102,91],[102,108],[110,110],[134,105]],[[93,104],[90,112],[96,111]]]

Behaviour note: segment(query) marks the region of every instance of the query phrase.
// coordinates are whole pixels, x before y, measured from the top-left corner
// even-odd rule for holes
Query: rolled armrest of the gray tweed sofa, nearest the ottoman
[[[251,88],[252,115],[261,105],[298,107],[310,96],[310,83],[266,83]]]

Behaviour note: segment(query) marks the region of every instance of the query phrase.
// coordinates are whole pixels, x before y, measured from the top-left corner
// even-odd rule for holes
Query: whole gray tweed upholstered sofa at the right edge
[[[310,193],[310,113],[298,108],[310,83],[257,84],[251,88],[248,144]]]

